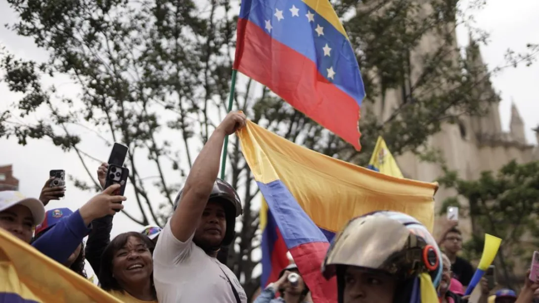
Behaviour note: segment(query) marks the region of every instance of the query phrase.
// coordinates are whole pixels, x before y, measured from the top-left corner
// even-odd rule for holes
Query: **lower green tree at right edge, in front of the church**
[[[517,266],[527,266],[539,245],[539,162],[512,161],[497,174],[484,171],[478,180],[472,181],[446,170],[439,182],[457,191],[457,196],[447,198],[441,209],[459,206],[462,214],[471,219],[473,238],[465,245],[468,256],[481,256],[483,233],[500,237],[497,268],[508,286],[513,287],[515,273],[522,273],[523,269]]]

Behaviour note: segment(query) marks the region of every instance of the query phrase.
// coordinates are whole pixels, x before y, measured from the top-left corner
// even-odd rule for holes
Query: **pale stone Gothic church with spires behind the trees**
[[[431,8],[425,6],[424,10],[425,13],[429,13]],[[455,31],[453,33],[453,46],[456,47],[457,37]],[[412,83],[420,74],[419,58],[422,57],[421,55],[438,50],[439,47],[439,38],[433,34],[427,34],[422,38],[417,49],[411,52]],[[458,60],[458,56],[458,53],[453,54],[455,62]],[[479,46],[474,43],[473,39],[470,39],[466,48],[466,58],[469,63],[485,73],[487,72],[487,66],[483,63]],[[443,152],[448,168],[457,171],[461,178],[467,180],[478,178],[482,171],[499,170],[512,160],[519,163],[539,160],[539,148],[527,142],[524,135],[525,127],[532,126],[524,125],[515,104],[513,103],[511,109],[510,130],[503,132],[500,121],[500,99],[495,93],[495,89],[488,79],[481,89],[490,95],[490,98],[492,95],[497,98],[496,102],[485,102],[485,115],[481,117],[462,116],[458,123],[443,125],[441,132],[428,139],[430,147]],[[384,121],[403,102],[402,95],[402,88],[390,89],[385,94],[384,101],[376,100],[374,105],[364,105],[368,106],[370,113],[376,115],[380,121]],[[535,133],[539,142],[539,128],[535,130]],[[438,164],[421,162],[411,153],[400,155],[396,160],[403,175],[407,178],[432,182],[442,174]],[[440,188],[435,196],[436,211],[440,210],[445,198],[454,195],[453,190]],[[465,234],[471,233],[469,223],[462,222],[460,227]],[[437,232],[435,230],[435,234]]]

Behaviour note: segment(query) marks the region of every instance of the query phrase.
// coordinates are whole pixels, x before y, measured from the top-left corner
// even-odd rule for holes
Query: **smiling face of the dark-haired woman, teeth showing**
[[[120,286],[140,284],[150,279],[154,263],[148,246],[139,238],[129,237],[112,259],[112,273]]]

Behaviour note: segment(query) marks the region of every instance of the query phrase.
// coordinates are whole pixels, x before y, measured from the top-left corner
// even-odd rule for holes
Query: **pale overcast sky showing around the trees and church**
[[[503,54],[508,47],[522,51],[528,42],[539,43],[537,12],[539,12],[537,0],[513,0],[510,5],[507,0],[489,0],[485,10],[475,15],[478,25],[491,34],[490,43],[481,48],[483,60],[489,66],[497,66],[503,63]],[[6,2],[0,1],[2,24],[15,22],[15,17]],[[459,29],[458,39],[460,44],[468,43],[465,29]],[[18,37],[3,26],[0,28],[0,45],[6,46],[9,51],[26,59],[42,61],[46,58],[46,54],[37,49],[32,39]],[[59,85],[60,90],[65,94],[74,96],[77,92],[77,88],[71,87],[72,85],[64,78],[51,81]],[[511,101],[514,100],[526,124],[527,139],[535,144],[535,134],[531,128],[539,125],[539,97],[536,93],[539,83],[539,64],[507,70],[492,81],[494,87],[501,92],[502,128],[508,130],[510,106]],[[1,83],[0,95],[2,96],[0,111],[5,109],[6,104],[20,99],[19,95],[10,93]],[[106,161],[109,147],[99,140],[88,139],[87,141],[89,143],[84,144],[85,152]],[[20,191],[25,195],[39,196],[50,169],[65,169],[68,174],[85,176],[76,155],[64,154],[47,141],[34,140],[22,147],[17,144],[16,140],[0,139],[0,147],[0,165],[13,164],[15,176],[20,180]],[[93,166],[92,170],[96,170],[97,162],[89,162],[89,164]],[[77,190],[68,184],[66,198],[63,201],[52,202],[47,209],[68,207],[75,210],[91,196],[90,193]],[[129,205],[129,200],[125,205],[127,210],[137,215],[136,206]],[[113,235],[139,229],[141,226],[137,226],[124,215],[116,215]]]

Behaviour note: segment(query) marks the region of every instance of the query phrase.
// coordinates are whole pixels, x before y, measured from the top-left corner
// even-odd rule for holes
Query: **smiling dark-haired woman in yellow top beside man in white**
[[[121,233],[103,251],[101,288],[127,303],[157,302],[151,256],[154,243],[139,232]]]

